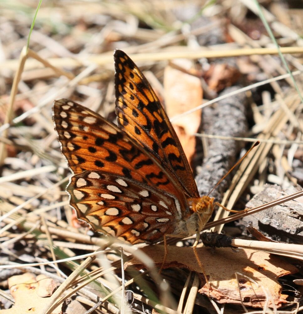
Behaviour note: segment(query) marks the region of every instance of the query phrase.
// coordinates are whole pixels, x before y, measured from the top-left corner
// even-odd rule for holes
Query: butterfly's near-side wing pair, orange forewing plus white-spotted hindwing
[[[144,147],[71,100],[55,101],[53,110],[62,153],[75,174],[67,192],[79,219],[130,243],[183,232],[185,195]]]

